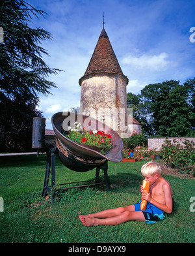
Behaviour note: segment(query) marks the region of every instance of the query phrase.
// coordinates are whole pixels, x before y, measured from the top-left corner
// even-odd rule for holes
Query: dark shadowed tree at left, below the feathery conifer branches
[[[26,102],[22,95],[10,101],[10,107],[1,111],[0,146],[1,152],[31,151],[33,117],[42,116],[36,110],[36,103]]]

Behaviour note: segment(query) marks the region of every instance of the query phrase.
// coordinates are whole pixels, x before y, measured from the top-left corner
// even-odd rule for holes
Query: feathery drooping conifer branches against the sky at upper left
[[[48,54],[40,46],[42,40],[51,40],[51,34],[29,26],[31,16],[44,14],[23,0],[0,3],[0,26],[4,30],[4,42],[0,43],[0,82],[1,92],[8,99],[24,94],[38,100],[38,93],[47,95],[55,86],[45,76],[56,74],[57,69],[47,67],[42,54]]]

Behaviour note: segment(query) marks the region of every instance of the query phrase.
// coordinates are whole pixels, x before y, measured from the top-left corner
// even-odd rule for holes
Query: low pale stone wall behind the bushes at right
[[[177,142],[181,144],[183,144],[185,140],[190,140],[195,143],[195,137],[168,137],[168,139],[171,140],[172,142],[175,139]],[[156,148],[157,150],[160,150],[164,140],[166,140],[166,138],[148,138],[149,150],[151,150],[151,148]]]

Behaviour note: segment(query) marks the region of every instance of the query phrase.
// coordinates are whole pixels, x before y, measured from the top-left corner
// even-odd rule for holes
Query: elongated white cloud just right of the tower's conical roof
[[[133,56],[127,54],[123,57],[122,63],[125,65],[131,65],[136,69],[148,69],[149,71],[164,71],[167,69],[170,61],[167,61],[168,54],[162,52],[161,54],[149,56],[143,54],[142,56]]]

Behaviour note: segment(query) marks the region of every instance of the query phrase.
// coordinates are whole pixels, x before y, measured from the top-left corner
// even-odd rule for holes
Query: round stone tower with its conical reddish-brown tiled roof
[[[123,75],[103,27],[81,86],[81,112],[106,123],[119,135],[127,132],[127,76]]]

